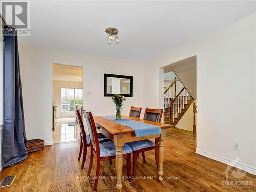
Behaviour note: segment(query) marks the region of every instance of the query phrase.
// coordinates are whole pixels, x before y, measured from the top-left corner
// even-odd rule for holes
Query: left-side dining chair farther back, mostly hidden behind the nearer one
[[[78,119],[78,125],[80,127],[80,151],[78,155],[78,161],[81,159],[82,151],[83,151],[83,157],[82,157],[82,165],[81,169],[84,167],[84,163],[86,162],[86,153],[87,153],[87,147],[90,146],[90,137],[86,134],[86,130],[84,129],[84,124],[82,121],[82,117],[80,114],[80,111],[78,109],[75,109],[75,115]],[[106,142],[110,141],[110,139],[106,136],[104,136],[101,133],[98,133],[99,142]]]

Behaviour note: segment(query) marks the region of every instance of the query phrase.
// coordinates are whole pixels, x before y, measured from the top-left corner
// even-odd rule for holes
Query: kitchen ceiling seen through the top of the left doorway
[[[82,82],[83,68],[53,63],[52,80]]]

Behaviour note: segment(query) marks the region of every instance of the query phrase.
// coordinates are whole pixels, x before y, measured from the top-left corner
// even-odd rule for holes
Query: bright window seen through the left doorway
[[[61,88],[61,112],[74,111],[75,105],[82,105],[82,89]]]

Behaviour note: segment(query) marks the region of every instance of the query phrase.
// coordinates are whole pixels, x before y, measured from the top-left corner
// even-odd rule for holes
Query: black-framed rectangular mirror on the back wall
[[[125,75],[104,74],[104,96],[120,94],[124,97],[133,96],[133,77]]]

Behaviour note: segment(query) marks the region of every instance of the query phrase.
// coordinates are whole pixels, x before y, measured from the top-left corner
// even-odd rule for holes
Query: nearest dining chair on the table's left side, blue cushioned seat
[[[91,112],[84,112],[84,118],[86,119],[89,136],[90,136],[90,163],[88,168],[87,176],[90,176],[91,169],[93,165],[93,157],[96,157],[96,174],[95,174],[95,181],[93,186],[93,191],[96,190],[98,180],[99,180],[99,171],[100,171],[100,162],[111,160],[116,158],[116,146],[113,141],[102,142],[100,143],[98,140],[97,130],[94,123],[94,119]],[[132,148],[128,145],[123,145],[123,157],[126,157],[127,160],[127,176],[128,180],[131,181],[131,153]]]

